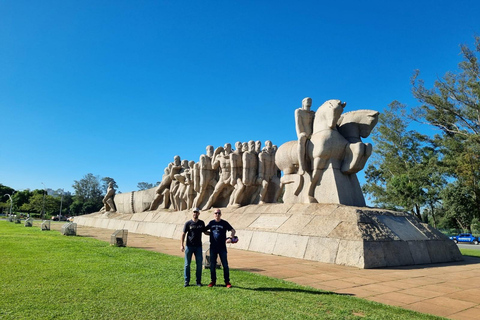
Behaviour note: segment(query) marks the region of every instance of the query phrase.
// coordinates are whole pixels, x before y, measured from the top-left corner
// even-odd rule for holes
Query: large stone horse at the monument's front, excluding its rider
[[[278,148],[275,163],[283,171],[285,203],[340,203],[365,206],[356,177],[372,153],[361,138],[370,135],[378,122],[374,110],[345,114],[346,103],[328,100],[315,113],[313,134],[306,145],[308,170],[298,174],[297,141]]]

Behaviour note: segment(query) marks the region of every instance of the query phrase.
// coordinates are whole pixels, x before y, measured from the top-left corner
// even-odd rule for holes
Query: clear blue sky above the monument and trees
[[[18,190],[93,173],[128,192],[209,144],[280,145],[306,96],[414,106],[414,70],[431,84],[480,33],[478,0],[3,0],[0,16],[0,183]]]

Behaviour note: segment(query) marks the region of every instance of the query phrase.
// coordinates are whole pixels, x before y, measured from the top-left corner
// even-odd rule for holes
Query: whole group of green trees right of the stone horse
[[[363,191],[376,206],[408,211],[437,228],[480,230],[480,37],[428,88],[414,73],[412,110],[394,101],[372,135]],[[415,129],[428,124],[433,136]]]

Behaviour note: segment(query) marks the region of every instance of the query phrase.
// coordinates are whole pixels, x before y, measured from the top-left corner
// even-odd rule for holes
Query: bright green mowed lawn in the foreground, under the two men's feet
[[[184,288],[182,258],[7,221],[0,261],[0,319],[439,319],[234,269]]]

